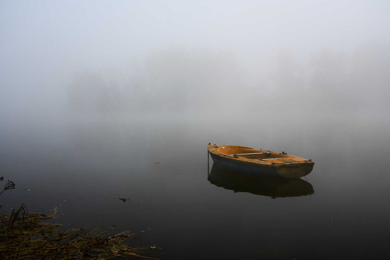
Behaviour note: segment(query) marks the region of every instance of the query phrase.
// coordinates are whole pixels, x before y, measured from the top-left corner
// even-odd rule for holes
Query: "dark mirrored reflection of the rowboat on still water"
[[[255,195],[285,198],[306,196],[314,193],[313,186],[305,180],[264,178],[241,173],[229,172],[218,167],[211,167],[207,178],[211,184],[234,192],[249,192]]]

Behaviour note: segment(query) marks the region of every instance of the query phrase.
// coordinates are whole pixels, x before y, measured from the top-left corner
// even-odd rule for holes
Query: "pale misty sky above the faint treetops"
[[[2,1],[1,107],[48,104],[75,71],[172,46],[233,51],[249,78],[266,77],[281,49],[307,60],[322,48],[388,44],[389,13],[388,1]]]

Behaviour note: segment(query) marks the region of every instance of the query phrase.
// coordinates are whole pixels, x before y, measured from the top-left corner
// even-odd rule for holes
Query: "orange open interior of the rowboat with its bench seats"
[[[253,154],[253,155],[240,155],[240,157],[248,159],[268,159],[268,158],[283,158],[283,157],[295,157],[287,154],[281,154],[278,152],[270,152],[266,150],[256,150],[250,147],[236,146],[236,145],[226,145],[221,146],[215,149],[224,154],[253,154],[259,152],[269,152],[269,154]]]

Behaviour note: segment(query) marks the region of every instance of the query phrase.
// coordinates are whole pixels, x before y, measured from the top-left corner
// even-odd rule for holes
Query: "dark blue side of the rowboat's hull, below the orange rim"
[[[225,169],[230,172],[244,173],[248,175],[254,175],[259,177],[266,178],[283,178],[281,177],[273,167],[258,166],[252,164],[245,164],[235,161],[229,161],[216,157],[214,154],[210,153],[211,159],[215,164],[222,169]]]

